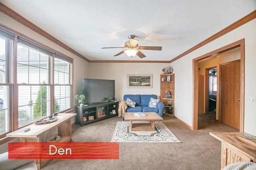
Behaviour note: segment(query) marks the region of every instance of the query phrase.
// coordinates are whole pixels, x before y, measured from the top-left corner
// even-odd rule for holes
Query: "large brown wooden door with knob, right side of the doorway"
[[[240,128],[240,60],[220,65],[220,122]]]

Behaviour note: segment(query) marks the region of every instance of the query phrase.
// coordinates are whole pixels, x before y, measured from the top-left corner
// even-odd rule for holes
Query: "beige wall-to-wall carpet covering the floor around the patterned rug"
[[[215,121],[213,115],[198,115],[198,131],[174,117],[163,123],[182,143],[119,143],[118,160],[50,160],[41,170],[220,170],[221,142],[210,132],[239,132]],[[111,117],[72,126],[72,142],[110,142],[117,121]]]

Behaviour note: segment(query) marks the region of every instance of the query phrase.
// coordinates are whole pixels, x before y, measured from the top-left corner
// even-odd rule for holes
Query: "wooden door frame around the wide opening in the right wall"
[[[206,53],[192,60],[193,83],[193,110],[192,110],[192,130],[198,130],[198,61],[213,57],[220,53],[240,47],[240,132],[244,132],[244,39]]]

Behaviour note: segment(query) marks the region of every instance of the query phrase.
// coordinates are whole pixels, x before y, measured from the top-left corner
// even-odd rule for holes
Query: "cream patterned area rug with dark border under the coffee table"
[[[132,123],[149,123],[149,121],[133,121]],[[155,121],[155,131],[130,131],[130,121],[118,121],[111,142],[181,143],[162,121]]]

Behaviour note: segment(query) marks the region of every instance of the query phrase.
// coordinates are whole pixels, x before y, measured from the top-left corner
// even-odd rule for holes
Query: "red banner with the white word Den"
[[[9,143],[9,159],[119,159],[119,143]]]

